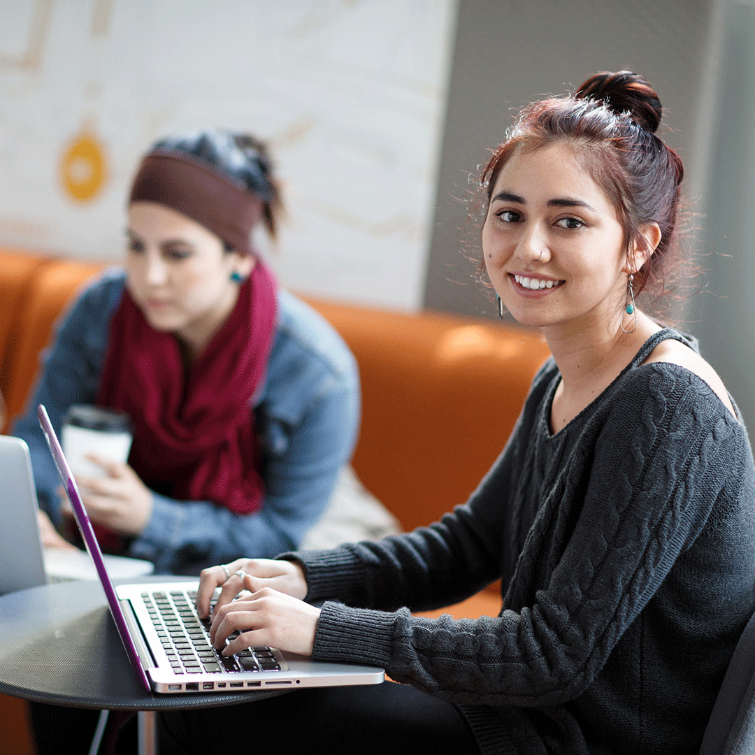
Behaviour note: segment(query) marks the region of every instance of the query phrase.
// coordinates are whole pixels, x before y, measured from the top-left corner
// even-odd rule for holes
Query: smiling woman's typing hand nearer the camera
[[[251,578],[244,578],[246,589],[249,581]],[[244,595],[214,612],[210,639],[223,655],[259,646],[312,655],[320,609],[270,587]],[[241,634],[226,645],[226,639],[236,630]]]

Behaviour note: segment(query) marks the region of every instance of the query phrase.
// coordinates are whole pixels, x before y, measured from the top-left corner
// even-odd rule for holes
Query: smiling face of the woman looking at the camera
[[[624,230],[613,205],[562,143],[516,152],[491,195],[482,251],[517,322],[538,328],[620,322]]]

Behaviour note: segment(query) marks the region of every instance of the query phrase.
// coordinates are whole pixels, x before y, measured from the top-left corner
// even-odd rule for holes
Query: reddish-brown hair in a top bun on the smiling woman
[[[485,210],[498,174],[517,151],[565,142],[611,200],[627,249],[646,245],[641,227],[658,223],[661,242],[634,274],[634,286],[636,293],[646,286],[657,295],[664,293],[676,247],[684,167],[680,156],[655,134],[661,114],[658,94],[630,71],[597,73],[573,95],[526,106],[482,168]]]

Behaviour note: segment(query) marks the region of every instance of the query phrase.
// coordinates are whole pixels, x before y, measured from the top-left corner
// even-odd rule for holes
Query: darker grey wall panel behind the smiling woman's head
[[[451,68],[424,304],[494,317],[494,297],[474,280],[460,242],[476,238],[462,201],[486,149],[504,139],[513,108],[560,94],[593,72],[630,68],[664,104],[661,135],[685,160],[699,191],[695,121],[712,2],[692,0],[461,0]],[[670,129],[673,129],[671,131]]]

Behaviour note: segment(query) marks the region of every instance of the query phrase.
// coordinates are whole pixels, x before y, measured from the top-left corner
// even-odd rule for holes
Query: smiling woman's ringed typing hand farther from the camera
[[[245,572],[242,578],[236,572]],[[294,561],[273,559],[236,559],[230,564],[202,569],[199,575],[199,590],[196,609],[199,618],[210,615],[210,600],[216,587],[222,587],[217,598],[215,612],[230,603],[242,590],[257,593],[271,587],[279,593],[304,599],[307,596],[307,580],[304,569]]]

